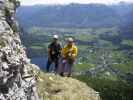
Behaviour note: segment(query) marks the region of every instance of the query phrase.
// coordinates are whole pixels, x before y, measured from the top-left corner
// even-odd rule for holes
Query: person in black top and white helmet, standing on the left
[[[48,46],[48,61],[46,66],[47,72],[49,72],[49,69],[52,63],[55,64],[54,71],[57,72],[60,55],[61,55],[61,45],[58,42],[58,35],[54,35],[52,43],[49,44]]]

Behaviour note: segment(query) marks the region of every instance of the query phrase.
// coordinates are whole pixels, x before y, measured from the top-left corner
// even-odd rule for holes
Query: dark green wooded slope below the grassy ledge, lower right
[[[76,78],[86,82],[89,86],[100,92],[102,100],[133,99],[133,86],[124,81],[112,81],[101,78],[90,78],[87,76],[76,76]]]

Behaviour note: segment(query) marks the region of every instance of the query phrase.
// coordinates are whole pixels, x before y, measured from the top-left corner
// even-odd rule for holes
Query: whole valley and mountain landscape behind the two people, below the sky
[[[59,35],[62,47],[66,38],[73,37],[78,57],[72,77],[98,91],[102,100],[132,100],[132,8],[132,4],[38,5],[34,11],[21,7],[17,13],[20,37],[31,62],[43,71],[52,36]],[[21,17],[24,13],[26,17]]]

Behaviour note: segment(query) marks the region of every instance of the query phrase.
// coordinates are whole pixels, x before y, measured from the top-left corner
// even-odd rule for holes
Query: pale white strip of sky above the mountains
[[[112,4],[120,1],[133,2],[133,0],[20,0],[22,5],[35,5],[35,4],[69,4],[69,3],[104,3]]]

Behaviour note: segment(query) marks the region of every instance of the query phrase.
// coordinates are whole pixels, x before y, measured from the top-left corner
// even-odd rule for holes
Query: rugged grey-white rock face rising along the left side
[[[34,65],[19,37],[16,0],[0,0],[0,100],[39,100]]]

